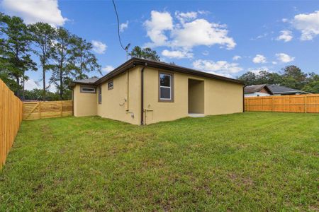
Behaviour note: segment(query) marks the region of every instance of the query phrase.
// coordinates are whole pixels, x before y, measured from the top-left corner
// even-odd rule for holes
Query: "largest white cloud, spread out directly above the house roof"
[[[196,15],[195,15],[196,14]],[[221,45],[233,49],[236,45],[232,37],[228,37],[226,25],[210,23],[203,18],[196,18],[196,12],[177,12],[178,23],[168,12],[152,11],[150,20],[145,21],[147,36],[152,40],[148,46],[180,47],[191,49],[198,45]],[[167,33],[168,35],[166,35]]]

